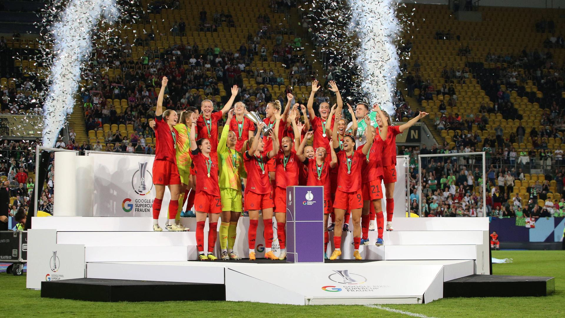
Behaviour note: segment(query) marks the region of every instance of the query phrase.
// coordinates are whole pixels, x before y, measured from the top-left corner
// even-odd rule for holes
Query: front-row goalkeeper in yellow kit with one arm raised
[[[233,109],[228,112],[227,123],[233,122],[233,114]],[[245,172],[241,152],[238,152],[236,149],[238,141],[236,132],[230,130],[230,125],[226,124],[221,131],[220,143],[218,144],[221,196],[220,247],[222,260],[241,259],[233,252],[233,245],[236,242],[237,221],[243,212],[241,179],[246,178],[247,173]]]

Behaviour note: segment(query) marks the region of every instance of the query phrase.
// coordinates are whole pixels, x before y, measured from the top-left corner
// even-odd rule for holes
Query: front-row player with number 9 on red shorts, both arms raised
[[[336,113],[341,113],[341,107],[338,107]],[[366,124],[370,124],[369,117],[365,117]],[[337,137],[337,125],[332,132],[332,147],[337,155],[339,164],[337,171],[337,190],[336,198],[333,202],[333,209],[336,215],[336,227],[333,230],[334,251],[329,259],[337,259],[341,255],[341,232],[342,222],[346,210],[351,210],[353,217],[353,242],[355,245],[355,259],[362,259],[359,253],[359,244],[361,241],[361,212],[363,208],[363,195],[361,191],[361,171],[363,161],[366,161],[367,153],[369,153],[373,144],[373,132],[368,129],[367,143],[361,149],[355,150],[355,140],[351,136],[344,137],[343,150],[340,148],[340,142]]]

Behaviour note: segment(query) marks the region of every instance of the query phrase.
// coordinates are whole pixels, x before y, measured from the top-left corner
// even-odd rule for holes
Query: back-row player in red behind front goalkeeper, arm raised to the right
[[[232,108],[237,92],[237,85],[233,85],[232,96],[225,103],[224,107],[220,111],[216,111],[216,113],[212,113],[214,104],[212,104],[211,100],[205,100],[201,103],[202,115],[198,117],[197,121],[198,137],[210,140],[212,153],[216,153],[218,149],[218,121]]]

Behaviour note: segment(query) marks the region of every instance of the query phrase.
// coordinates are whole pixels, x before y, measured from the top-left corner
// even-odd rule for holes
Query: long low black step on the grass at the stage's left
[[[41,282],[41,296],[92,302],[225,300],[225,285],[77,278],[74,280]]]

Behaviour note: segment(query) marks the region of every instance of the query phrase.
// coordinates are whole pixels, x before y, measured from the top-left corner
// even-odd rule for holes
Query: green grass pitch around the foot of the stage
[[[450,298],[429,304],[384,305],[428,317],[565,317],[565,251],[493,251],[512,258],[493,264],[498,275],[554,276],[547,297]],[[25,276],[0,274],[2,317],[399,317],[401,313],[365,306],[289,306],[247,302],[97,303],[41,298],[25,289]],[[275,295],[273,295],[274,297]],[[406,316],[407,317],[407,316]]]

